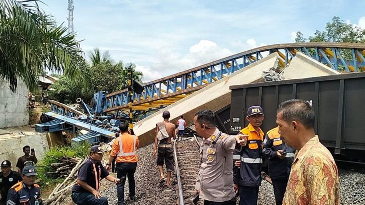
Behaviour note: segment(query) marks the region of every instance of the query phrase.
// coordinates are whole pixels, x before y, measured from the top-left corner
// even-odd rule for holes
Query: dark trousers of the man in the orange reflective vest
[[[118,205],[124,204],[124,184],[126,183],[126,176],[128,177],[128,185],[129,185],[129,197],[135,195],[135,181],[134,181],[134,173],[137,168],[137,162],[127,163],[120,162],[116,163],[117,169],[117,177],[122,178],[121,182],[118,183]]]

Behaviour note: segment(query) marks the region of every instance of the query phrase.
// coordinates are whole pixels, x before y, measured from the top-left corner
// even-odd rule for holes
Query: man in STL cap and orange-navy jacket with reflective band
[[[234,173],[233,181],[238,183],[239,204],[257,204],[258,188],[261,185],[262,140],[264,132],[260,126],[264,120],[264,112],[260,106],[252,106],[247,109],[246,120],[249,125],[243,128],[239,134],[248,135],[246,144],[241,150],[237,150],[233,159],[238,167],[238,174]],[[237,176],[238,175],[238,176]]]

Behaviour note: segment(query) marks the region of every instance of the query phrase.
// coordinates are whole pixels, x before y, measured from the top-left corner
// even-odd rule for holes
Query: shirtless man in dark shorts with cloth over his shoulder
[[[162,113],[162,117],[164,118],[163,123],[165,124],[168,138],[165,138],[162,140],[157,139],[157,135],[158,135],[158,132],[160,131],[160,129],[158,128],[159,127],[158,124],[156,124],[155,149],[153,151],[153,155],[154,155],[154,157],[156,157],[156,154],[157,154],[157,166],[158,166],[158,170],[160,171],[160,175],[161,175],[160,183],[163,183],[165,181],[164,171],[162,170],[163,166],[164,166],[164,159],[165,159],[166,170],[167,170],[166,185],[167,185],[167,187],[170,187],[171,186],[171,183],[170,183],[171,172],[174,169],[174,151],[172,149],[171,137],[176,139],[176,133],[175,133],[175,125],[173,123],[169,122],[170,112],[164,111],[164,113]],[[158,141],[160,141],[160,143],[158,144],[158,150],[157,150]]]

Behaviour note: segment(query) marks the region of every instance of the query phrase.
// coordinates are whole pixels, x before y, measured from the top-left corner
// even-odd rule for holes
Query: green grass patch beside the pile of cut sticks
[[[39,166],[37,168],[38,178],[41,178],[39,184],[42,186],[42,188],[53,188],[57,185],[57,183],[61,183],[64,180],[64,178],[55,178],[47,175],[47,172],[55,171],[49,164],[59,163],[56,159],[51,158],[50,156],[55,158],[69,156],[83,159],[89,155],[90,146],[91,145],[89,143],[85,142],[81,144],[74,144],[72,146],[58,146],[47,151],[43,159],[37,164],[37,166]]]

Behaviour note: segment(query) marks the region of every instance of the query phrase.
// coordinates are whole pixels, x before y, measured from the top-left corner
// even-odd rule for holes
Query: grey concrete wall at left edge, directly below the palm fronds
[[[28,88],[18,79],[18,86],[11,93],[9,83],[0,81],[0,128],[28,124]],[[25,97],[24,97],[25,96]]]

